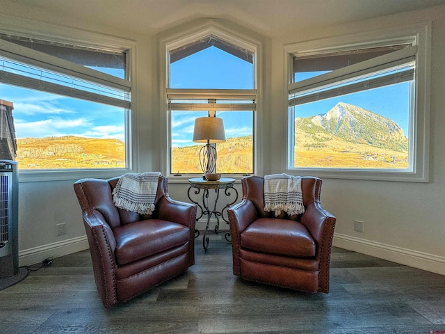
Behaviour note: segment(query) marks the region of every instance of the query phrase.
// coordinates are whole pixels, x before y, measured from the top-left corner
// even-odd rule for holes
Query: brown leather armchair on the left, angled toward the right
[[[196,205],[172,200],[167,179],[160,176],[152,215],[127,212],[113,203],[118,180],[74,183],[97,290],[106,308],[124,303],[195,264]]]

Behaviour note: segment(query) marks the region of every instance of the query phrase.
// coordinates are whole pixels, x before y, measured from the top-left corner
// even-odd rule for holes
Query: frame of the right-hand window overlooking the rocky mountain
[[[288,109],[286,121],[286,157],[282,161],[282,168],[286,173],[298,175],[316,175],[325,178],[339,178],[346,180],[382,180],[399,182],[428,182],[429,179],[429,114],[430,114],[430,24],[419,24],[399,29],[389,29],[387,31],[373,31],[369,33],[358,33],[355,35],[345,35],[337,38],[327,38],[323,40],[314,40],[310,42],[301,42],[284,46],[284,63],[286,69],[286,108]],[[415,48],[415,72],[413,90],[412,111],[410,112],[410,132],[409,137],[412,140],[412,170],[391,170],[389,168],[294,168],[293,163],[293,113],[289,107],[289,93],[300,84],[312,86],[324,86],[318,83],[319,79],[311,78],[305,81],[293,83],[293,56],[322,54],[324,52],[344,51],[354,47],[373,47],[381,45],[391,45],[396,43],[412,42]],[[406,51],[394,51],[378,58],[403,58],[403,55],[410,54],[413,49]],[[396,53],[399,53],[398,55]],[[391,56],[392,54],[392,56]],[[394,55],[396,54],[396,55]],[[402,55],[399,57],[399,55]],[[378,61],[368,62],[371,67],[380,65]],[[354,72],[354,69],[362,66],[362,63],[343,67],[339,70],[323,74],[328,81],[334,80],[338,75],[334,72],[348,75]],[[360,65],[362,64],[362,65]],[[366,71],[366,70],[365,70]],[[369,70],[368,70],[369,71]],[[410,152],[411,153],[411,152]]]

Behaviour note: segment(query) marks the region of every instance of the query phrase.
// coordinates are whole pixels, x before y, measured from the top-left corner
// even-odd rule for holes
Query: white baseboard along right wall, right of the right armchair
[[[334,241],[332,244],[340,248],[353,250],[357,253],[371,255],[379,257],[380,259],[445,275],[445,257],[443,256],[432,255],[417,250],[391,246],[338,233],[334,234]]]

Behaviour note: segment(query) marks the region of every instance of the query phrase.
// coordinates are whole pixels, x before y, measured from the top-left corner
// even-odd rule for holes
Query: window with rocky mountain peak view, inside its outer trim
[[[422,164],[416,71],[425,67],[418,42],[413,37],[295,54],[288,168],[415,175],[416,162]]]

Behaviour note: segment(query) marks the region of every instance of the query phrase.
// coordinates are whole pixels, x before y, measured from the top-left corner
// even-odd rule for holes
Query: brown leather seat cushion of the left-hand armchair
[[[188,227],[160,219],[120,225],[113,229],[113,234],[116,262],[120,266],[184,245],[190,239]]]

